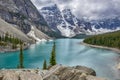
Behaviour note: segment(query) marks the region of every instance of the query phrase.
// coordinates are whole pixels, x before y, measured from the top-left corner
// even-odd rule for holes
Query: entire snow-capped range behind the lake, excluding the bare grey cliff
[[[77,34],[94,35],[120,30],[120,18],[78,19],[70,9],[60,10],[56,4],[41,8],[40,13],[53,31],[66,37],[73,37]]]

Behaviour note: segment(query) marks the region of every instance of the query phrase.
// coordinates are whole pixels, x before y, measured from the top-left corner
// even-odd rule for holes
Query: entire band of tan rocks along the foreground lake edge
[[[0,70],[0,80],[107,80],[96,77],[93,69],[84,66],[55,65],[49,70],[5,69]]]

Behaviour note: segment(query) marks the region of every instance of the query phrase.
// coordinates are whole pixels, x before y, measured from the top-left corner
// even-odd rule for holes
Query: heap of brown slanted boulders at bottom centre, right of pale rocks
[[[96,76],[93,69],[83,66],[66,67],[56,65],[50,71],[46,73],[48,76],[43,77],[44,80],[87,80],[88,75]]]

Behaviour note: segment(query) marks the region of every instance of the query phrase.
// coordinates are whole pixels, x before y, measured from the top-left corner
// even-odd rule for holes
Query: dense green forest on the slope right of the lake
[[[86,38],[84,43],[120,49],[120,31],[94,35]]]

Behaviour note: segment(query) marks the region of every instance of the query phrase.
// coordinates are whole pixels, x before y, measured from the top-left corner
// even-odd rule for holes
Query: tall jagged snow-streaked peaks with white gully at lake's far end
[[[80,25],[70,9],[60,11],[57,5],[43,7],[40,12],[43,14],[50,28],[66,37],[73,37],[76,34],[84,33],[85,26]]]

